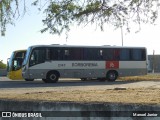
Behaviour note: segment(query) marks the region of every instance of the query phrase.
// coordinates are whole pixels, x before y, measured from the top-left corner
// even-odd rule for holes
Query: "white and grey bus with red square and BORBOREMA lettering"
[[[60,77],[115,81],[147,74],[146,53],[145,47],[35,45],[27,50],[22,76],[46,83]]]

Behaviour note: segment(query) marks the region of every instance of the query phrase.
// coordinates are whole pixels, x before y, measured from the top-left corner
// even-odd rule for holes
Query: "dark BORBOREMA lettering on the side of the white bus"
[[[72,63],[72,67],[96,67],[97,63]]]

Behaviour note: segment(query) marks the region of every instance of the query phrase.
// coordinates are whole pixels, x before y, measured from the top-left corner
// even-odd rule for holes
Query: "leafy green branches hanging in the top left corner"
[[[21,7],[21,12],[19,10]],[[26,12],[25,0],[0,0],[0,32],[5,36],[6,26],[14,25],[14,20]]]

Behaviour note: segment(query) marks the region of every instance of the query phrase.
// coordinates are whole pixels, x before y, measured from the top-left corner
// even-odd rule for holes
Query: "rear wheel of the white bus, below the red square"
[[[109,71],[107,73],[107,80],[110,82],[114,82],[118,77],[118,73],[115,70]]]

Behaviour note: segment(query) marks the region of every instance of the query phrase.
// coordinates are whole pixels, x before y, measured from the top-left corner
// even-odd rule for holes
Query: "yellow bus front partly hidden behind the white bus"
[[[10,58],[7,59],[7,77],[12,80],[21,80],[22,62],[25,57],[26,50],[16,50],[12,52]]]

